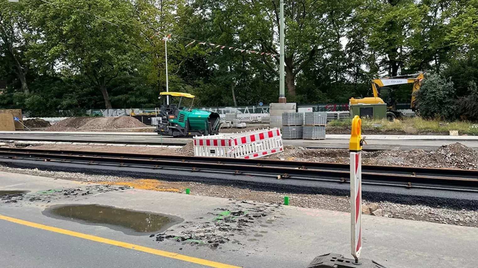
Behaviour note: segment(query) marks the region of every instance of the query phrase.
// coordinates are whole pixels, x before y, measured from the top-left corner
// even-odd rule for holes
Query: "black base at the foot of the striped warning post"
[[[327,253],[315,257],[307,268],[385,268],[371,259],[360,258],[356,263],[355,259],[345,258],[344,255]]]

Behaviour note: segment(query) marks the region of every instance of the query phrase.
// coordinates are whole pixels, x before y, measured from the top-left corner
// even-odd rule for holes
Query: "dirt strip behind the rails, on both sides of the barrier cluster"
[[[152,146],[106,146],[87,144],[48,144],[31,146],[29,148],[45,150],[77,150],[83,152],[194,156],[194,145],[192,142],[177,149]],[[303,147],[284,146],[283,153],[266,156],[262,159],[347,164],[349,163],[349,152],[346,149],[309,149]],[[363,152],[362,164],[478,170],[478,152],[473,148],[469,148],[460,143],[443,145],[434,151],[413,149],[408,151],[390,150]]]

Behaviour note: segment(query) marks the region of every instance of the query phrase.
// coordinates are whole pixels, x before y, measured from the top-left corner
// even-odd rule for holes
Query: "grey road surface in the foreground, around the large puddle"
[[[125,189],[67,196],[46,190],[106,186],[11,173],[0,173],[0,186],[0,190],[30,191],[17,203],[0,201],[2,267],[304,268],[323,253],[350,257],[348,213],[243,203],[194,196],[194,191],[184,195]],[[35,196],[39,199],[31,198]],[[293,200],[290,202],[293,205]],[[165,231],[173,235],[183,230],[205,234],[204,226],[219,224],[217,217],[226,215],[225,211],[236,211],[239,217],[261,211],[261,216],[251,217],[241,229],[228,231],[228,241],[211,247],[207,241],[158,242],[150,233],[131,235],[108,225],[42,213],[60,204],[101,204],[183,218],[184,222]],[[228,224],[239,223],[232,220]],[[478,228],[367,215],[363,227],[361,257],[386,267],[476,268]],[[221,232],[215,229],[213,233]]]

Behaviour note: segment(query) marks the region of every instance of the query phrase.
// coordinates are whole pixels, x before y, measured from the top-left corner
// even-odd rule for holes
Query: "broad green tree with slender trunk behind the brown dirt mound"
[[[38,47],[45,58],[85,75],[111,109],[109,84],[134,68],[140,59],[136,40],[145,38],[130,1],[57,0],[55,6],[41,4],[33,16],[44,30]]]

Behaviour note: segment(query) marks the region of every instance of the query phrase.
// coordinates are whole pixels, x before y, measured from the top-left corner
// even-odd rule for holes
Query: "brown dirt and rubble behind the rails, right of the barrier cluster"
[[[414,149],[410,151],[363,152],[362,164],[478,169],[477,153],[472,148],[455,143],[443,145],[434,151]],[[349,153],[346,149],[308,149],[284,146],[283,153],[264,157],[264,159],[347,164],[349,163]]]

